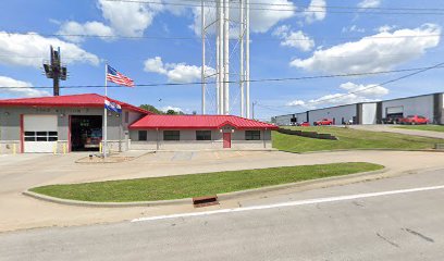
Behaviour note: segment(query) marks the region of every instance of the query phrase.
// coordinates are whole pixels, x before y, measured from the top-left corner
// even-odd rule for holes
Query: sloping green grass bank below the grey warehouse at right
[[[287,127],[288,128],[288,127]],[[320,150],[341,149],[432,149],[435,144],[442,144],[443,139],[425,138],[411,135],[378,133],[357,130],[344,127],[289,127],[307,132],[328,133],[336,136],[340,140],[323,140],[285,135],[273,132],[273,147],[279,150],[291,152],[308,152]]]

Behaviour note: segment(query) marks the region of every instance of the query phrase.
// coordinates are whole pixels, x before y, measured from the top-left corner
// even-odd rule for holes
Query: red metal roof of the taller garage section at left
[[[122,109],[140,112],[144,114],[153,114],[138,107],[126,102],[108,98],[122,107]],[[49,96],[38,98],[21,98],[0,100],[0,107],[103,107],[104,96],[97,94],[70,95],[70,96]]]

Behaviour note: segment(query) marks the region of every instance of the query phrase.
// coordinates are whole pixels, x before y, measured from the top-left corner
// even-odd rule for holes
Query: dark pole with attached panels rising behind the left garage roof
[[[50,47],[50,62],[44,63],[45,75],[47,78],[52,78],[53,96],[60,96],[60,80],[66,80],[67,70],[62,65],[60,57],[60,47],[55,51]]]

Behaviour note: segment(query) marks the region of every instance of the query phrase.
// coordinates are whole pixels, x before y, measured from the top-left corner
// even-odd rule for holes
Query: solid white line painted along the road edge
[[[158,215],[158,216],[150,216],[150,217],[140,217],[140,219],[132,220],[131,222],[171,220],[171,219],[177,219],[177,217],[189,217],[189,216],[212,215],[212,214],[222,214],[222,213],[232,213],[232,212],[244,212],[244,211],[251,211],[251,210],[286,208],[286,207],[295,207],[295,206],[326,203],[326,202],[344,201],[344,200],[351,200],[351,199],[390,196],[390,195],[397,195],[397,194],[410,194],[410,192],[419,192],[419,191],[428,191],[428,190],[437,190],[437,189],[443,189],[443,188],[444,188],[444,185],[433,186],[433,187],[419,187],[419,188],[409,188],[409,189],[400,189],[400,190],[391,190],[391,191],[382,191],[382,192],[357,194],[357,195],[307,199],[307,200],[289,201],[289,202],[275,203],[275,204],[254,206],[254,207],[245,207],[245,208],[236,208],[236,209],[223,209],[223,210],[214,210],[214,211],[194,212],[194,213]]]

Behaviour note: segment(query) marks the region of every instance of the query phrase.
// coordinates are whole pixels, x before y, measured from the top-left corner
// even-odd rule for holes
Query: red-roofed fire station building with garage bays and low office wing
[[[109,151],[271,148],[276,128],[236,116],[155,115],[108,100],[122,108],[107,111]],[[99,151],[103,108],[96,94],[0,100],[0,153]]]

